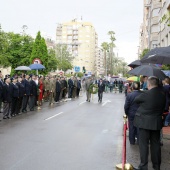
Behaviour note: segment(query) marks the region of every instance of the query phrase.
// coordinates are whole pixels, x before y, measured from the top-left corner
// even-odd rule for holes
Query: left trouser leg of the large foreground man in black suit
[[[148,170],[150,131],[139,128],[139,151],[140,151],[140,169]]]

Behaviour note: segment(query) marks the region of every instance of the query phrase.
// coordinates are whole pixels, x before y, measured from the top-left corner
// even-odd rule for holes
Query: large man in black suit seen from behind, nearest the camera
[[[160,130],[162,129],[162,114],[165,108],[166,97],[163,89],[158,87],[159,80],[149,77],[147,80],[148,91],[136,97],[139,104],[134,119],[134,126],[139,128],[139,170],[148,170],[149,143],[153,168],[160,170],[161,146]]]

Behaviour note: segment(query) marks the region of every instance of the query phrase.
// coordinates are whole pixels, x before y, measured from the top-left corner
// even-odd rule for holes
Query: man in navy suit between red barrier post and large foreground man
[[[126,97],[124,110],[125,114],[128,116],[128,123],[129,123],[129,141],[131,145],[135,144],[135,137],[137,137],[138,142],[138,128],[133,125],[133,121],[135,118],[135,114],[137,109],[139,108],[139,104],[135,103],[134,100],[137,96],[141,94],[140,83],[133,82],[132,84],[133,92],[129,93]]]

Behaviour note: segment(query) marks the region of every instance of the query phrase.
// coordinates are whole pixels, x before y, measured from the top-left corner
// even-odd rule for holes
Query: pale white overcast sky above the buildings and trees
[[[57,23],[82,16],[94,25],[99,45],[109,41],[108,31],[115,31],[116,53],[130,63],[137,59],[142,14],[143,0],[3,0],[0,24],[15,33],[27,25],[28,34],[40,30],[55,40]]]

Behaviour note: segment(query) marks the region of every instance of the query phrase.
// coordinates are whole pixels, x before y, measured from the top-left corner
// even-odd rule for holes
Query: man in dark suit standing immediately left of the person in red
[[[30,111],[34,111],[36,96],[37,96],[37,85],[35,82],[35,75],[32,75],[32,79],[30,81],[30,96],[29,96]]]

